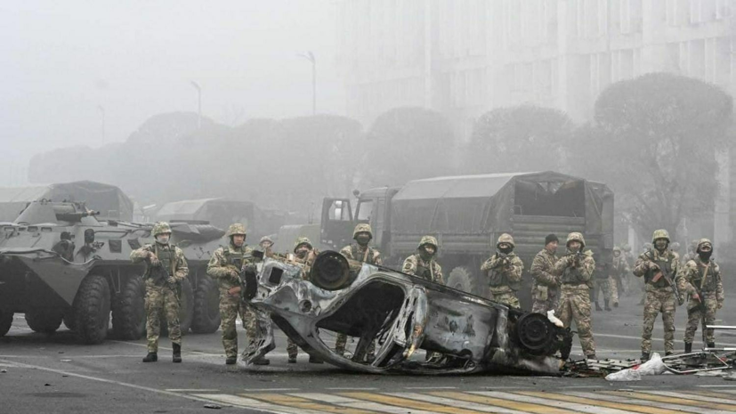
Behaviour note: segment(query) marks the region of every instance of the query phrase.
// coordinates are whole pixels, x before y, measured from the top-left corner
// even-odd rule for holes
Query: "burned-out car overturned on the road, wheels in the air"
[[[369,373],[560,373],[571,333],[545,315],[509,309],[487,299],[327,251],[308,280],[303,266],[266,259],[244,272],[243,296],[258,315],[260,337],[243,353],[249,363],[274,348],[271,322],[307,353],[337,367]],[[352,353],[327,340],[357,339]],[[366,358],[376,341],[375,359]],[[417,350],[432,359],[412,358]]]

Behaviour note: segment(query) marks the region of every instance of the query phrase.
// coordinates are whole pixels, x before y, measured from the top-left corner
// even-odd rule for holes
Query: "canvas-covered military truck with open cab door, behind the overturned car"
[[[432,234],[440,242],[439,261],[452,288],[489,296],[480,268],[496,249],[502,233],[510,233],[525,265],[518,292],[522,308],[531,306],[533,257],[547,234],[561,239],[570,231],[585,234],[587,248],[604,272],[613,248],[613,193],[603,183],[551,171],[445,176],[415,180],[402,187],[353,191],[349,198],[323,200],[321,241],[341,248],[352,241],[356,223],[373,227],[384,262],[399,266]]]

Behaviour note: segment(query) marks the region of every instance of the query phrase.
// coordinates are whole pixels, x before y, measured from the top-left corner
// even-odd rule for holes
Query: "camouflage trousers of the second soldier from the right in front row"
[[[651,353],[651,330],[659,313],[665,328],[665,353],[675,352],[675,303],[677,299],[671,288],[647,287],[644,300],[644,324],[642,331],[642,353]]]

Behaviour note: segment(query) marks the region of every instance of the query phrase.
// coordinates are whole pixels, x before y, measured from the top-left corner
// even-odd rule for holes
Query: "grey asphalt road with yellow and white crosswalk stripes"
[[[594,313],[600,358],[638,357],[642,306],[627,297],[610,313]],[[731,318],[736,304],[721,310]],[[676,347],[682,350],[684,308],[678,309]],[[655,351],[662,351],[661,322]],[[240,343],[245,343],[240,330]],[[719,334],[718,345],[736,344]],[[224,365],[220,332],[184,337],[181,364],[171,362],[167,339],[159,361],[142,363],[145,339],[78,345],[60,329],[53,335],[28,329],[22,315],[0,338],[0,412],[166,413],[220,411],[279,413],[669,413],[736,411],[736,382],[724,377],[661,375],[610,383],[603,378],[365,375],[307,362],[287,364],[286,340],[277,333],[271,365]],[[695,344],[696,347],[700,343]],[[573,358],[581,358],[577,344]]]

